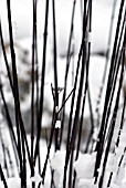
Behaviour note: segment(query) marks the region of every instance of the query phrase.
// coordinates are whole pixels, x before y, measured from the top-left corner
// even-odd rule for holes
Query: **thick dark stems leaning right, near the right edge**
[[[124,0],[122,0],[120,8],[119,8],[116,35],[115,35],[115,41],[114,41],[113,54],[111,59],[109,75],[108,75],[108,81],[107,81],[104,112],[103,112],[102,123],[101,123],[101,128],[99,128],[99,134],[98,134],[98,142],[96,145],[97,156],[96,156],[96,164],[95,164],[95,171],[94,171],[95,184],[97,182],[97,177],[98,177],[97,169],[99,168],[99,165],[101,165],[101,159],[102,159],[104,144],[105,144],[107,123],[108,123],[109,112],[112,107],[112,101],[113,101],[113,95],[115,91],[118,67],[120,65],[119,48],[120,48],[120,41],[124,39],[124,34],[123,34],[124,22],[122,25],[123,9],[124,9]]]

